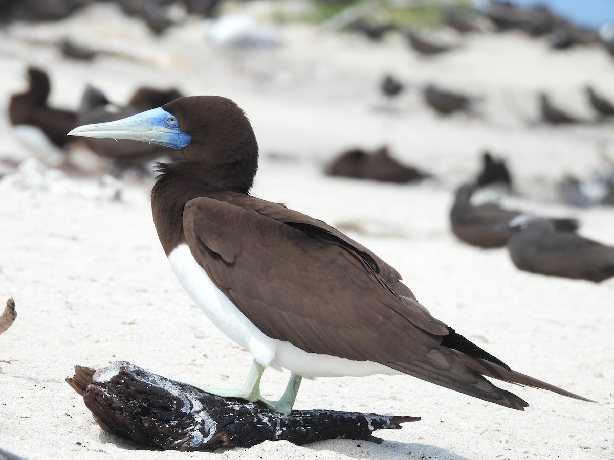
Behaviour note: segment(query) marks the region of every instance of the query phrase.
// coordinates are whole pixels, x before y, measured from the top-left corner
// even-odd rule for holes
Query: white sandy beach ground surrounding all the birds
[[[500,383],[529,402],[526,412],[516,412],[411,377],[322,378],[303,383],[296,408],[419,415],[422,421],[379,432],[381,445],[330,440],[216,453],[141,450],[95,424],[64,382],[72,366],[125,359],[171,378],[238,386],[251,357],[217,331],[176,282],[153,229],[151,183],[124,185],[122,201],[114,202],[112,190],[95,180],[37,181],[30,172],[28,180],[0,182],[0,300],[14,297],[19,315],[0,336],[1,448],[33,459],[614,458],[614,280],[595,285],[519,272],[505,250],[457,242],[447,221],[453,187],[475,173],[481,148],[508,156],[519,188],[544,196],[562,172],[583,175],[597,166],[599,145],[612,155],[611,123],[556,129],[527,128],[521,120],[535,117],[533,96],[544,86],[586,116],[585,83],[614,98],[614,63],[602,50],[550,53],[523,36],[475,36],[463,50],[428,60],[394,37],[374,45],[295,26],[278,31],[284,41],[278,50],[229,53],[202,39],[201,23],[170,31],[167,40],[152,39],[112,10],[95,12],[96,19],[90,12],[55,25],[12,26],[1,37],[3,107],[23,87],[9,72],[19,63],[48,68],[52,102],[66,107],[76,106],[85,82],[117,101],[141,83],[231,97],[260,141],[255,196],[333,225],[364,226],[367,234],[351,236],[397,268],[435,316],[514,369],[597,404]],[[133,52],[142,61],[73,63],[52,47],[24,42],[64,35]],[[387,70],[411,84],[395,103],[403,110],[396,117],[372,110],[381,103],[376,82]],[[418,97],[423,79],[483,96],[483,119],[436,117]],[[24,156],[7,121],[0,130],[0,155]],[[393,186],[322,175],[322,163],[341,148],[381,142],[438,181]],[[273,161],[271,153],[295,161]],[[583,234],[614,245],[612,209],[505,202],[578,217]],[[280,394],[286,377],[268,371],[266,393]]]

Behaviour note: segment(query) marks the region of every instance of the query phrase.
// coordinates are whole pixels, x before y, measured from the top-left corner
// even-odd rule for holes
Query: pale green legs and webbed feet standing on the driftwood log
[[[262,378],[262,373],[264,370],[265,367],[254,359],[254,362],[252,362],[252,368],[249,370],[247,379],[243,384],[243,388],[241,389],[211,388],[209,386],[197,385],[191,382],[184,383],[206,391],[207,393],[216,394],[217,396],[224,398],[238,397],[249,402],[260,401],[274,412],[289,415],[290,410],[292,410],[292,406],[294,405],[294,401],[297,399],[298,387],[301,385],[301,380],[303,380],[303,377],[297,374],[290,375],[290,380],[286,386],[286,391],[284,391],[281,399],[279,399],[279,401],[269,401],[268,399],[264,399],[262,394],[260,394],[260,379]]]

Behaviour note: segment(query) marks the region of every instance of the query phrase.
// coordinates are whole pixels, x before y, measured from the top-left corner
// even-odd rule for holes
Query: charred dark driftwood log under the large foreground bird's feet
[[[380,443],[378,429],[400,429],[412,416],[293,410],[288,416],[242,399],[224,399],[134,366],[114,362],[96,371],[75,366],[66,378],[102,429],[162,450],[252,447],[265,440],[297,445],[348,438]]]

